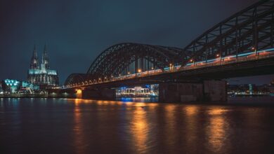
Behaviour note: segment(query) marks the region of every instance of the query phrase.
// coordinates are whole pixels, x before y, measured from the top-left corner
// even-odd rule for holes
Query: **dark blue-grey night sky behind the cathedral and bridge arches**
[[[1,0],[0,80],[26,80],[34,43],[48,44],[51,69],[60,83],[85,73],[97,55],[122,42],[183,48],[256,0]],[[233,79],[270,83],[272,76]]]

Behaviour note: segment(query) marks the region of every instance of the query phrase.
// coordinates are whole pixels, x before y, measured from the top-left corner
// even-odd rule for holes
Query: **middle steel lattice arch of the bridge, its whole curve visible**
[[[138,43],[120,43],[101,52],[89,67],[90,78],[111,78],[138,70],[164,69],[178,62],[179,48]]]

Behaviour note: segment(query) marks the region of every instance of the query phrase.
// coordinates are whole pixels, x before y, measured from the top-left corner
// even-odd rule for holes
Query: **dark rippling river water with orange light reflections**
[[[274,153],[273,98],[141,101],[0,98],[0,153]]]

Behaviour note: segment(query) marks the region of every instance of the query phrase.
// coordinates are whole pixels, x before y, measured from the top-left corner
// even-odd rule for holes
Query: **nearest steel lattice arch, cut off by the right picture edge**
[[[212,27],[184,48],[188,60],[273,47],[274,1],[259,1]],[[183,61],[185,64],[188,61]]]

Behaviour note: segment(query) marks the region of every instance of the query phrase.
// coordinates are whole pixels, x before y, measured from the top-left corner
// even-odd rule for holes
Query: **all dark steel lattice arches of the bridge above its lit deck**
[[[273,48],[274,40],[274,0],[264,0],[235,13],[223,20],[185,48],[120,43],[112,45],[98,55],[89,70],[72,73],[65,85],[92,82],[103,78],[113,78],[126,74],[184,66],[189,62],[239,55],[265,48]],[[181,67],[183,68],[183,67]]]

